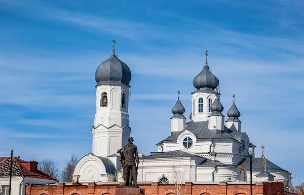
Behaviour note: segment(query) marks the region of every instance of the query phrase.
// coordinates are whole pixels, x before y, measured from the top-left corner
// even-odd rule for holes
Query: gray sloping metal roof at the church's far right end
[[[245,171],[250,171],[250,158],[245,158],[245,160],[240,164],[244,166]],[[264,157],[252,158],[252,171],[264,171]],[[271,172],[288,172],[276,164],[272,163],[269,159],[266,159],[266,171]]]

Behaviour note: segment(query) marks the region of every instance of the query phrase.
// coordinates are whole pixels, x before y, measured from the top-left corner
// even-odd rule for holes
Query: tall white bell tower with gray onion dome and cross
[[[128,143],[131,133],[128,113],[131,71],[115,55],[115,43],[113,40],[112,55],[95,73],[96,114],[92,126],[93,154],[111,160]]]

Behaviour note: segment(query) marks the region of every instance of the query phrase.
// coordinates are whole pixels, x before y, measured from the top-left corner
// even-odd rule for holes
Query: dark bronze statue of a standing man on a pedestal
[[[128,144],[125,145],[124,151],[119,149],[117,153],[120,153],[120,161],[123,166],[123,179],[125,180],[125,185],[137,186],[137,170],[139,164],[139,158],[137,153],[137,147],[133,144],[133,138],[128,139]]]

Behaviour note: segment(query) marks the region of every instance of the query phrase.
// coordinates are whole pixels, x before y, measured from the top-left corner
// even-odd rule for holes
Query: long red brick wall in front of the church
[[[149,185],[140,185],[145,190],[146,195],[167,195],[174,194],[174,185],[159,185],[158,182],[152,182]],[[253,185],[253,194],[255,195],[274,195],[284,194],[282,182],[256,182]],[[88,185],[64,185],[58,183],[57,186],[36,186],[27,184],[26,195],[115,195],[116,185],[95,184]],[[227,184],[220,182],[214,185],[198,185],[192,182],[186,182],[181,187],[182,194],[195,195],[250,195],[250,185]]]

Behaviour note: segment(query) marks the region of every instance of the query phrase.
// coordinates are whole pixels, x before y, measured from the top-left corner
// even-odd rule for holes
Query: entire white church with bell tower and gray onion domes
[[[122,167],[117,151],[128,143],[129,89],[131,71],[115,55],[103,61],[96,70],[96,114],[92,126],[93,150],[82,157],[73,174],[73,180],[86,182],[113,182],[122,180]],[[264,155],[254,156],[253,145],[241,128],[241,113],[234,101],[223,115],[218,78],[207,62],[194,78],[192,113],[189,121],[183,115],[185,108],[179,98],[172,109],[171,132],[157,144],[158,151],[139,154],[137,181],[175,182],[248,182],[250,158],[253,149],[252,180],[291,182],[291,173],[272,163]],[[176,173],[178,173],[177,178]]]

